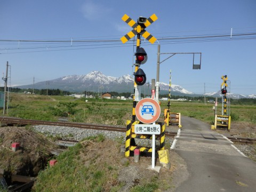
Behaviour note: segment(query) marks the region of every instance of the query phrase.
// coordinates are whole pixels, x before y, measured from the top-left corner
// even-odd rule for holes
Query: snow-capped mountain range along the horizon
[[[124,75],[122,77],[111,77],[102,74],[100,71],[92,71],[86,75],[69,75],[52,79],[50,81],[38,82],[29,85],[15,86],[20,89],[60,89],[70,92],[133,92],[134,78],[131,75]],[[169,84],[159,82],[161,94],[169,92]],[[141,92],[151,93],[151,83],[147,82],[142,86]],[[194,94],[179,85],[171,85],[171,94],[174,95],[188,95],[194,97],[198,94]],[[220,91],[214,93],[206,93],[206,96],[221,97]],[[256,98],[256,95],[241,95],[230,94],[230,98]]]

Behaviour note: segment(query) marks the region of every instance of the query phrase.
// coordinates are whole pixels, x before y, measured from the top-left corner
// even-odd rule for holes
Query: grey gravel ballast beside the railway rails
[[[81,141],[82,139],[90,136],[95,136],[98,134],[105,135],[108,139],[123,140],[125,142],[125,133],[114,132],[114,131],[98,131],[98,130],[88,130],[79,129],[77,127],[67,127],[67,126],[51,126],[51,125],[36,125],[34,129],[48,136],[61,137],[63,140],[76,140]],[[169,127],[166,131],[178,131],[177,127]],[[135,142],[139,146],[151,147],[150,139],[135,139]],[[165,143],[169,143],[171,146],[173,138],[165,138]],[[159,140],[156,141],[156,145],[159,145]],[[234,143],[242,153],[247,157],[255,158],[255,151],[251,145],[239,145]]]

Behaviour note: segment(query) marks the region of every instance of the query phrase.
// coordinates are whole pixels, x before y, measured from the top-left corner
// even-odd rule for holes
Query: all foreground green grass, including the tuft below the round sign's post
[[[83,141],[90,143],[101,143],[105,140],[103,135],[85,138]],[[122,167],[112,162],[99,164],[101,156],[95,155],[93,158],[85,158],[83,154],[89,153],[84,142],[78,143],[74,147],[69,147],[67,151],[57,157],[57,164],[53,167],[47,165],[46,169],[39,172],[32,192],[35,191],[121,191],[125,183],[118,181],[118,174]],[[85,142],[86,143],[86,142]],[[118,145],[118,142],[115,142]],[[86,160],[85,160],[86,159]],[[89,162],[88,162],[89,161]],[[108,159],[106,159],[108,161]],[[127,161],[129,162],[129,161]],[[111,164],[110,164],[111,163]],[[123,167],[129,166],[129,163]],[[151,176],[152,177],[152,176]],[[147,182],[148,181],[148,182]],[[131,187],[130,191],[156,191],[169,189],[170,183],[163,181],[158,175],[152,178],[147,176],[141,178],[138,185]]]

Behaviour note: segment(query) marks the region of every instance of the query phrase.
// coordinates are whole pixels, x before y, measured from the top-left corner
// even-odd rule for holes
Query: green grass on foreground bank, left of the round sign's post
[[[86,138],[92,142],[102,142],[103,135]],[[90,163],[85,163],[82,154],[88,153],[86,147],[78,143],[74,147],[68,148],[57,157],[58,163],[55,166],[47,166],[44,171],[39,172],[32,191],[103,191],[105,185],[115,175],[117,169],[113,165],[102,164],[95,166],[94,159]],[[111,191],[118,191],[122,186],[113,186]]]

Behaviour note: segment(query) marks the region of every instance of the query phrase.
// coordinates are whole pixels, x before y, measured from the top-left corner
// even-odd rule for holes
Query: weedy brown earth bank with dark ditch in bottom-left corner
[[[50,159],[74,145],[50,141],[26,127],[0,127],[0,191],[30,191]]]

